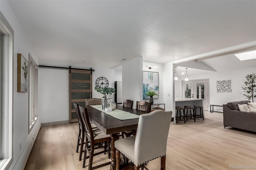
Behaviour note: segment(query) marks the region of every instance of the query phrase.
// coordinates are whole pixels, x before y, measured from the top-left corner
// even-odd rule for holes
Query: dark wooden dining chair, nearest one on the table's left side
[[[106,165],[109,165],[110,162],[106,162],[103,164],[100,164],[98,166],[92,167],[93,163],[93,157],[102,154],[102,153],[108,153],[108,158],[110,158],[110,147],[109,147],[109,141],[111,140],[110,135],[104,134],[100,129],[98,130],[92,130],[89,116],[87,113],[87,109],[79,106],[80,113],[82,115],[82,121],[85,124],[85,131],[86,131],[86,142],[85,142],[85,151],[84,151],[84,162],[83,162],[83,168],[85,168],[85,162],[86,159],[89,158],[89,164],[88,164],[88,170],[94,170],[96,168],[100,168]],[[90,146],[88,145],[88,142],[90,141]],[[103,145],[98,145],[98,143],[107,143]],[[102,151],[94,153],[94,150],[104,148]],[[87,156],[87,153],[89,156]]]

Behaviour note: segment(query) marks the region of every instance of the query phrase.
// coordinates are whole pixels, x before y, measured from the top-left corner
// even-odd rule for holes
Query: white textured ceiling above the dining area
[[[114,67],[125,62],[122,59],[138,56],[143,61],[168,63],[256,42],[254,0],[9,3],[40,65]],[[212,67],[215,61],[202,62]]]

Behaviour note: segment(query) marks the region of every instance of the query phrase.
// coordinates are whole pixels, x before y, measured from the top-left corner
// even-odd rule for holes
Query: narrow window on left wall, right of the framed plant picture
[[[29,56],[29,120],[28,120],[28,133],[34,127],[36,121],[38,121],[38,65]]]

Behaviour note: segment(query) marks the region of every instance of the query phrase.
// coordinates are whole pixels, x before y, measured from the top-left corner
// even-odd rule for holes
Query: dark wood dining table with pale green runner
[[[126,130],[136,130],[138,127],[139,119],[136,118],[121,121],[89,105],[86,106],[86,109],[90,121],[94,125],[96,125],[100,130],[102,130],[105,134],[109,134],[111,136],[110,170],[116,170],[116,148],[114,146],[114,143],[116,140],[119,139],[118,133]],[[120,105],[117,105],[116,109],[133,113],[135,115],[146,114],[145,111],[139,111],[136,109],[127,108]]]

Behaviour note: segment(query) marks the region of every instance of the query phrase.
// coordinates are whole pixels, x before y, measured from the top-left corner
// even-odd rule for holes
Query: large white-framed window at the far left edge
[[[12,163],[14,31],[0,12],[0,169]]]

